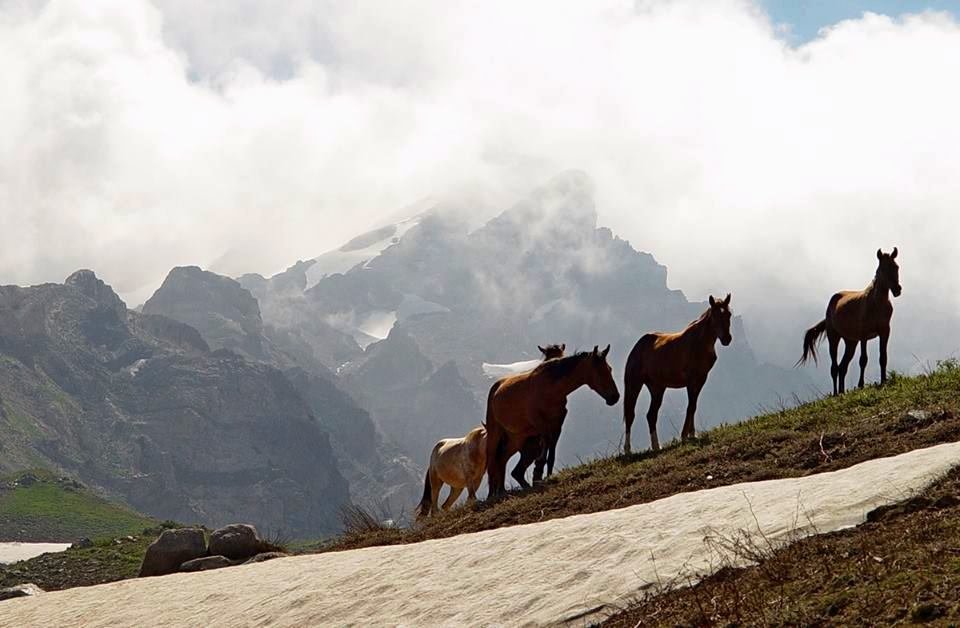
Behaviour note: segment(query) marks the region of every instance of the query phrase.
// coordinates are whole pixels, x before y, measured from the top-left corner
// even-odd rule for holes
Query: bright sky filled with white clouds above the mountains
[[[89,267],[135,305],[174,265],[269,274],[579,168],[761,353],[894,245],[898,316],[953,332],[904,343],[960,347],[960,2],[278,6],[0,0],[0,283]]]

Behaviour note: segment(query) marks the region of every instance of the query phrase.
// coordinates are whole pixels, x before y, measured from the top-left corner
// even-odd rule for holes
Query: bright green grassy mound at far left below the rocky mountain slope
[[[24,481],[30,477],[31,480]],[[40,470],[0,478],[0,541],[72,542],[140,533],[156,521]]]

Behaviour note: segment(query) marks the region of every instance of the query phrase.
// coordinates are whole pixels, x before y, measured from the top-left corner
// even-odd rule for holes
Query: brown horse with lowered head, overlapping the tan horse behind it
[[[530,437],[558,432],[567,415],[567,396],[589,386],[607,405],[620,400],[620,391],[603,351],[577,353],[547,360],[528,373],[498,380],[487,397],[487,483],[490,497],[505,493],[507,460]]]

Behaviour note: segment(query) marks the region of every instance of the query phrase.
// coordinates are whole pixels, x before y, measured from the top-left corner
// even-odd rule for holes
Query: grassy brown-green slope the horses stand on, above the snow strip
[[[709,384],[708,384],[709,385]],[[907,414],[925,410],[925,416]],[[723,484],[796,477],[960,440],[960,368],[894,377],[888,385],[825,398],[720,427],[659,454],[604,458],[565,469],[543,487],[443,513],[412,529],[355,530],[321,548],[411,543],[648,502]],[[573,417],[571,420],[578,420]],[[644,429],[641,419],[634,429]]]

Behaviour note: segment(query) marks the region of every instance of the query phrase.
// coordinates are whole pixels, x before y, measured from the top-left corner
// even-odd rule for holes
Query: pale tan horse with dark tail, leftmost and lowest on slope
[[[450,494],[443,509],[453,506],[463,489],[467,502],[477,499],[477,489],[487,469],[487,430],[475,427],[463,438],[444,438],[433,446],[430,466],[423,480],[423,498],[417,506],[417,518],[437,512],[437,502],[443,485],[450,485]]]

